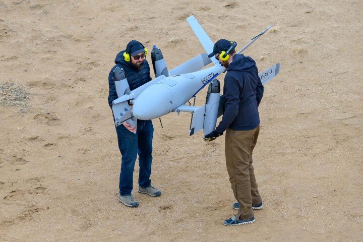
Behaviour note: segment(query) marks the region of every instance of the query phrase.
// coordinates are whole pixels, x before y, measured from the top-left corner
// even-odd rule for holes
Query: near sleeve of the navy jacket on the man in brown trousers
[[[224,114],[216,128],[216,132],[219,134],[222,134],[232,124],[238,114],[239,90],[241,89],[235,78],[226,76],[224,80]]]

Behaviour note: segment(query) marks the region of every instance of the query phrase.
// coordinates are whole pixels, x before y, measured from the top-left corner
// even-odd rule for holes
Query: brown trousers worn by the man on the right
[[[240,219],[253,217],[252,204],[262,202],[252,165],[252,151],[256,146],[259,132],[260,126],[248,131],[231,129],[226,131],[226,166],[234,198],[240,204],[236,214]]]

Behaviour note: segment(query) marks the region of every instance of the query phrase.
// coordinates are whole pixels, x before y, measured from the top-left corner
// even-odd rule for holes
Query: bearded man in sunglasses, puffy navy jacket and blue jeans
[[[150,67],[145,57],[147,49],[139,41],[132,40],[126,49],[119,52],[115,58],[115,66],[108,75],[108,104],[117,99],[113,80],[116,67],[123,68],[130,90],[134,90],[151,80]],[[113,117],[114,121],[114,117]],[[133,174],[136,157],[139,155],[139,193],[150,196],[160,196],[160,190],[151,186],[152,139],[154,128],[151,120],[137,120],[137,127],[127,122],[116,127],[118,148],[121,152],[121,171],[119,176],[118,201],[129,207],[137,207],[139,203],[131,194],[133,189]]]

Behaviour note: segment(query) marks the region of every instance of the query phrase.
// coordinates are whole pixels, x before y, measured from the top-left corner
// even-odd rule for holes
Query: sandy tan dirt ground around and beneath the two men
[[[259,107],[253,224],[223,226],[224,136],[189,137],[188,113],[153,121],[162,195],[117,201],[108,72],[131,39],[169,69],[204,52],[190,15],[237,49],[274,25],[245,51],[260,71],[281,64]],[[358,0],[0,0],[0,82],[30,94],[25,112],[0,106],[0,241],[363,241],[362,21]]]

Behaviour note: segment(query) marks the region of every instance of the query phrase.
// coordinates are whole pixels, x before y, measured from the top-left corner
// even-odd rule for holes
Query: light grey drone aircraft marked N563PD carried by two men
[[[116,126],[124,122],[134,126],[137,124],[137,119],[154,119],[169,112],[179,114],[179,112],[184,111],[192,113],[190,135],[202,129],[204,135],[207,135],[215,129],[217,117],[222,114],[220,99],[223,97],[220,96],[220,84],[216,77],[223,73],[225,68],[214,56],[208,57],[208,53],[213,51],[214,44],[194,16],[187,18],[187,21],[206,53],[199,54],[168,71],[161,50],[154,45],[151,51],[151,60],[155,79],[132,91],[129,88],[124,70],[117,67],[113,72],[113,79],[118,98],[112,102]],[[244,51],[271,27],[269,26],[254,37],[237,54]],[[226,52],[228,54],[229,51]],[[210,63],[213,63],[212,67],[201,70]],[[279,69],[280,64],[276,64],[259,73],[262,84],[264,85],[275,77]],[[209,87],[205,105],[201,107],[186,105],[207,85]]]

